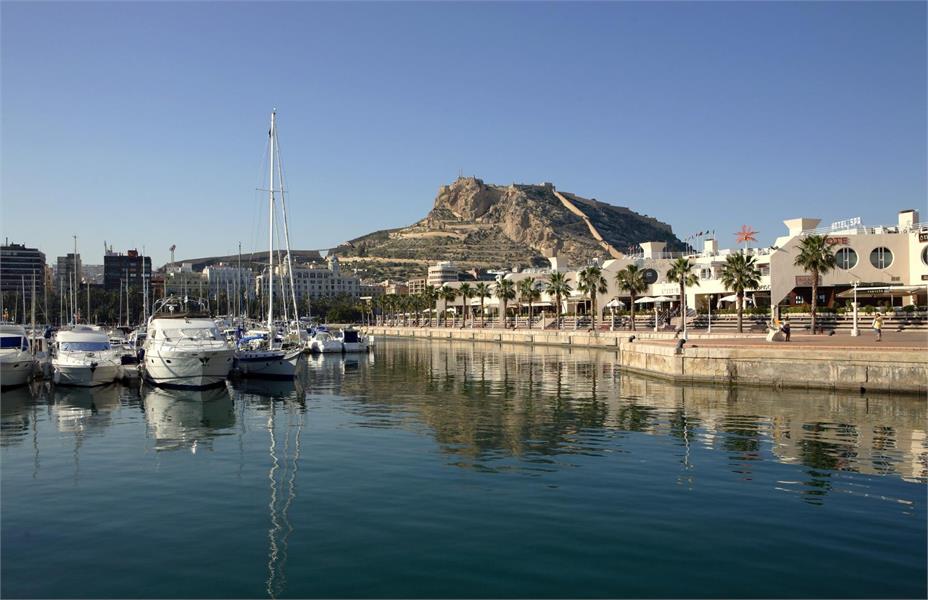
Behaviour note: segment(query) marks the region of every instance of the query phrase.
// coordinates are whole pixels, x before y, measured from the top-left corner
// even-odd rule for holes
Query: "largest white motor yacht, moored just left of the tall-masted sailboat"
[[[159,300],[148,321],[145,378],[155,385],[205,388],[221,385],[232,370],[233,349],[209,318],[202,300]]]

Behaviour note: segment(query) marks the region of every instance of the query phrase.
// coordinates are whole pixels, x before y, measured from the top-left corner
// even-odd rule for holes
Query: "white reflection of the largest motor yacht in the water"
[[[232,397],[225,387],[178,390],[146,386],[142,404],[155,437],[155,450],[212,450],[213,439],[235,425]]]

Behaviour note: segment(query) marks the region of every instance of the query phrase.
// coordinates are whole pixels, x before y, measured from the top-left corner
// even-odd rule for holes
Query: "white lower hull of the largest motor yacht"
[[[163,387],[200,389],[222,385],[232,370],[232,350],[149,352],[145,379]]]

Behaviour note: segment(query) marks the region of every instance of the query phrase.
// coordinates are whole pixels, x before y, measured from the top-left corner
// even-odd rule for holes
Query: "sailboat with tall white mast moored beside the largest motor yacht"
[[[280,192],[280,203],[284,214],[284,227],[287,241],[287,273],[290,277],[290,290],[293,292],[293,267],[290,264],[290,232],[287,225],[287,207],[283,197],[283,172],[280,167],[279,148],[277,144],[277,110],[271,112],[270,137],[270,173],[268,186],[268,310],[267,330],[258,335],[248,336],[239,340],[239,350],[236,355],[238,369],[245,377],[268,377],[277,379],[292,379],[296,375],[300,364],[302,349],[284,349],[277,340],[277,324],[274,322],[274,222],[277,216],[276,192]],[[275,169],[276,162],[276,169]],[[277,189],[274,189],[277,184]],[[286,300],[285,300],[286,303]],[[293,297],[294,318],[299,322],[297,315],[296,297]],[[266,335],[265,335],[266,333]],[[246,344],[243,346],[243,343]]]

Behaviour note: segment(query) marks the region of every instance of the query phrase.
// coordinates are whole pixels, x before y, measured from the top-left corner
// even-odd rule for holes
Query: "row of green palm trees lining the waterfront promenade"
[[[828,273],[835,267],[835,256],[831,250],[831,243],[825,236],[809,235],[803,238],[799,244],[799,254],[794,264],[802,267],[812,276],[812,331],[815,332],[816,309],[818,299],[818,285],[821,276]],[[696,265],[689,261],[688,258],[677,258],[670,265],[667,271],[667,279],[680,286],[680,319],[681,325],[686,319],[686,288],[699,285],[699,277],[693,271]],[[721,281],[726,289],[735,293],[738,313],[738,332],[743,331],[744,319],[744,297],[748,290],[757,289],[760,285],[760,269],[757,267],[753,256],[735,253],[729,254],[725,258],[725,264],[722,265]],[[615,275],[617,287],[628,293],[631,302],[629,306],[631,329],[635,329],[635,300],[648,289],[648,283],[645,281],[644,270],[637,265],[628,265]],[[602,269],[597,266],[589,266],[577,274],[577,291],[579,291],[591,303],[592,309],[592,327],[596,329],[596,315],[598,314],[597,297],[600,294],[608,292],[606,278],[603,276]],[[484,321],[484,301],[487,298],[496,296],[500,302],[500,315],[504,320],[504,326],[508,325],[508,306],[516,299],[523,305],[528,306],[529,327],[532,326],[534,317],[533,304],[540,300],[541,292],[544,291],[549,296],[553,296],[555,303],[555,321],[556,327],[561,327],[561,300],[569,297],[573,288],[571,281],[565,273],[554,272],[548,276],[546,281],[536,280],[534,277],[527,277],[514,283],[510,279],[503,279],[495,285],[480,281],[475,285],[462,283],[459,287],[454,288],[444,285],[440,288],[428,286],[418,294],[409,295],[385,295],[377,296],[373,299],[374,306],[381,310],[381,314],[392,315],[397,320],[399,315],[403,316],[404,323],[408,324],[408,314],[415,313],[417,324],[421,324],[420,315],[430,309],[428,325],[432,326],[432,315],[436,315],[438,325],[441,325],[441,313],[436,310],[438,300],[442,300],[445,306],[453,306],[460,298],[461,314],[463,325],[467,325],[468,306],[473,298],[480,299],[480,326]],[[447,314],[445,315],[445,325],[448,324]]]

